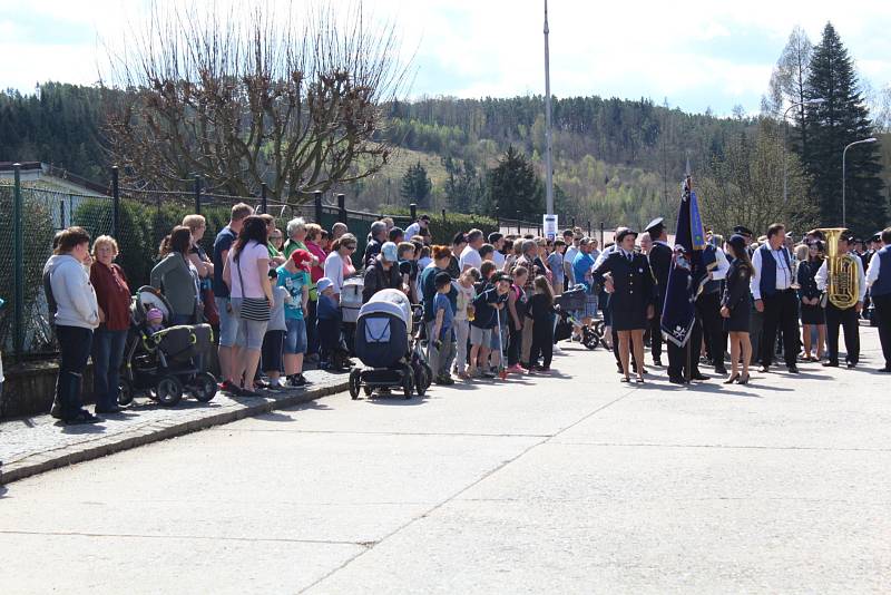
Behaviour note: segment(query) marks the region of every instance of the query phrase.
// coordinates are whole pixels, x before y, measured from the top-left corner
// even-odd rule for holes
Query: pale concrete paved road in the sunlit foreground
[[[14,482],[3,593],[891,592],[891,382],[329,397]],[[571,352],[570,352],[571,349]],[[0,488],[3,489],[3,488]]]

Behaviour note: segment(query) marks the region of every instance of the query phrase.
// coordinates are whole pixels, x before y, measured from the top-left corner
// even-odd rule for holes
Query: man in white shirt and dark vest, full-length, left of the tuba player
[[[786,228],[782,223],[767,227],[767,241],[752,254],[750,289],[755,300],[755,310],[764,314],[764,332],[761,340],[760,372],[768,372],[773,363],[777,326],[783,332],[783,355],[786,369],[799,372],[799,299],[792,289],[794,280],[792,260],[785,248]]]

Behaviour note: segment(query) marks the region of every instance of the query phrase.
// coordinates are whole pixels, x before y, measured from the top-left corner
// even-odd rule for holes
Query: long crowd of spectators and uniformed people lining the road
[[[669,245],[662,218],[643,233],[616,230],[603,250],[579,228],[555,238],[469,230],[433,243],[427,215],[405,230],[384,218],[371,224],[361,257],[356,234],[364,230],[343,223],[323,230],[298,217],[278,222],[246,204],[232,207],[208,250],[202,245],[205,232],[197,214],[172,230],[150,283],[170,304],[169,324],[217,328],[219,389],[234,396],[305,387],[305,367],[340,368],[335,353],[349,350],[342,294],[358,275],[363,302],[393,289],[423,305],[423,336],[438,384],[493,379],[499,372],[502,378],[549,373],[559,350],[558,296],[568,291],[584,293],[581,305],[568,313],[571,339],[581,340],[586,325],[603,320],[604,343],[614,351],[623,382],[646,381],[647,344],[656,367],[663,367],[667,348],[668,380],[678,384],[708,380],[699,369],[706,363],[726,375],[724,382],[746,383],[751,365],[770,371],[777,338],[792,373],[800,361],[839,365],[840,326],[853,368],[868,291],[885,358],[881,371],[891,371],[891,228],[866,243],[848,234],[838,240],[839,253],[856,255],[861,283],[850,309],[826,300],[829,251],[819,231],[799,243],[780,224],[758,238],[743,226],[726,241],[708,233],[703,252],[708,276],[695,302],[691,349],[666,336],[660,324],[670,267],[685,257]],[[96,413],[120,410],[118,373],[133,291],[115,263],[116,241],[99,236],[91,248],[90,242],[79,227],[59,232],[45,267],[61,353],[51,413],[67,423],[99,420],[80,398],[89,355]]]

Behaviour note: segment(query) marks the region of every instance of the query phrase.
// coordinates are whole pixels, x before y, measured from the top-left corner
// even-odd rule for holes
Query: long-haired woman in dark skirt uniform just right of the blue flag
[[[752,360],[752,342],[748,340],[748,325],[752,316],[752,294],[748,281],[752,279],[752,261],[745,237],[734,235],[727,242],[731,247],[731,267],[727,270],[724,295],[721,300],[721,315],[724,330],[731,339],[731,375],[725,384],[748,382],[748,362]],[[743,373],[740,375],[740,354],[743,357]]]

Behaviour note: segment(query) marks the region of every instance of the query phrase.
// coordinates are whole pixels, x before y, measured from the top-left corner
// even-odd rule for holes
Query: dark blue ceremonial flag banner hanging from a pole
[[[696,296],[707,276],[703,264],[705,232],[689,178],[684,183],[676,230],[675,255],[668,274],[660,326],[668,341],[684,347],[696,322]]]

